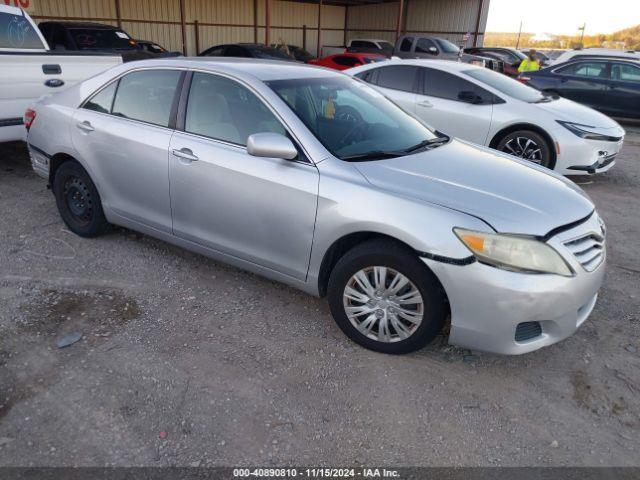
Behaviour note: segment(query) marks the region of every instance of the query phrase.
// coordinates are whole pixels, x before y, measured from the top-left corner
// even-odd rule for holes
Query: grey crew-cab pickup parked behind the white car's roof
[[[460,51],[455,43],[444,38],[421,35],[403,35],[396,42],[393,55],[400,58],[431,58],[437,60],[460,60],[465,63],[484,65],[502,72],[502,61],[490,57],[470,55]]]

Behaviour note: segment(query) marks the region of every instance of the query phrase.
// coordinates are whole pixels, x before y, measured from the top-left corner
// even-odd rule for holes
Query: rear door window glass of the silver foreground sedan
[[[177,70],[147,70],[126,75],[120,79],[113,114],[168,127],[181,73]]]

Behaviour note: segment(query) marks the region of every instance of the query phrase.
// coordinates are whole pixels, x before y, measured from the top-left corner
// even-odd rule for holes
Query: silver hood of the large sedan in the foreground
[[[354,165],[377,188],[473,215],[502,233],[544,236],[594,210],[564,177],[460,140]]]

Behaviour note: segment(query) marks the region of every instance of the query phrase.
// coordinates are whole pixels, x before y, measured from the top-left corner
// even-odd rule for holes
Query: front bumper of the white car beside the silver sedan
[[[564,130],[564,131],[563,131]],[[554,132],[559,154],[555,170],[562,175],[593,175],[604,173],[615,165],[615,159],[624,143],[624,131],[616,129],[613,134],[622,135],[617,142],[586,140],[566,129]],[[556,149],[558,149],[556,147]]]

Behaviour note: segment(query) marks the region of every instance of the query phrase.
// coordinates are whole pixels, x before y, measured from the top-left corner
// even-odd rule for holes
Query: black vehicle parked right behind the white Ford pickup
[[[156,58],[138,48],[124,30],[93,22],[42,22],[38,25],[52,50],[117,53],[122,60]]]

